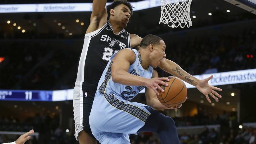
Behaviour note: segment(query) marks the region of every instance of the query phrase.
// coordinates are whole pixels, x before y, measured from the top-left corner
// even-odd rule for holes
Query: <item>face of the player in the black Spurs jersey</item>
[[[121,4],[116,6],[114,10],[115,10],[115,15],[114,15],[115,20],[120,21],[120,23],[122,24],[122,27],[126,27],[131,17],[131,11],[129,7],[125,6],[124,4]]]

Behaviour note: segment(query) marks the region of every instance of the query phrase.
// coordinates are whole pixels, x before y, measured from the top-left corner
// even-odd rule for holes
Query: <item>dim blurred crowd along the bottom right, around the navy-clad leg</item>
[[[181,144],[255,144],[256,128],[244,127],[242,129],[230,129],[227,133],[221,133],[214,128],[207,128],[199,134],[179,135]],[[144,132],[130,136],[131,144],[160,144],[156,134]]]

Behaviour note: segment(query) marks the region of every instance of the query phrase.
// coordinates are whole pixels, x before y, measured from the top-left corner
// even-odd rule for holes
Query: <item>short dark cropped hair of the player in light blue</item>
[[[156,36],[156,35],[153,35],[153,34],[148,34],[140,42],[140,47],[141,48],[146,48],[150,44],[154,44],[154,45],[160,44],[160,40],[163,41],[163,39],[160,38],[159,36]]]

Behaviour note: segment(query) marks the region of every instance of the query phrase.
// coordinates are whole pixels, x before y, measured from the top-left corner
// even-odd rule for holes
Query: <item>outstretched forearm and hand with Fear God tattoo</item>
[[[171,60],[168,60],[166,58],[164,58],[163,61],[161,61],[159,67],[172,74],[173,76],[175,77],[178,77],[184,81],[186,81],[187,83],[193,85],[193,86],[196,86],[197,89],[203,93],[206,97],[206,99],[208,100],[208,102],[211,103],[211,100],[208,96],[208,94],[215,99],[215,101],[218,101],[218,98],[221,98],[221,95],[219,95],[215,90],[218,90],[218,91],[222,91],[222,89],[220,88],[217,88],[217,87],[213,87],[211,85],[208,84],[208,81],[213,77],[209,77],[209,78],[206,78],[206,79],[202,79],[202,80],[199,80],[193,76],[191,76],[189,73],[187,73],[185,70],[183,70],[179,65],[177,65],[176,63],[174,63],[173,61]],[[217,96],[217,97],[216,97]]]

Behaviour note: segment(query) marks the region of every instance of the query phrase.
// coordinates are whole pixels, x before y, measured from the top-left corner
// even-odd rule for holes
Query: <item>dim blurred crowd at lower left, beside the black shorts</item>
[[[49,113],[36,114],[25,120],[19,120],[14,116],[0,115],[0,131],[25,132],[34,129],[38,136],[32,136],[27,144],[75,144],[74,131],[67,131],[59,124],[59,115]],[[17,137],[0,135],[0,143],[15,141]]]

